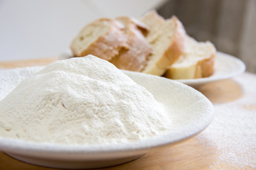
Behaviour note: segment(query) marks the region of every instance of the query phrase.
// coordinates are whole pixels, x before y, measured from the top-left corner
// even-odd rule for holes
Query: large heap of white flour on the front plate
[[[144,87],[92,55],[49,64],[0,102],[0,135],[33,142],[137,141],[170,122]]]

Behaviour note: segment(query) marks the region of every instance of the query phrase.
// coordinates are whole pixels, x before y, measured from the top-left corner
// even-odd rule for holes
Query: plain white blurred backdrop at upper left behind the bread
[[[0,61],[55,57],[86,23],[142,16],[165,0],[0,0]]]

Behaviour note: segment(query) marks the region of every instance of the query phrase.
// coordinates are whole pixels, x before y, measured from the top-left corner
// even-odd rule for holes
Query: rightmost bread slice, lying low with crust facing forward
[[[186,36],[183,55],[171,65],[164,77],[170,79],[197,79],[214,72],[215,47],[210,42],[197,42]]]

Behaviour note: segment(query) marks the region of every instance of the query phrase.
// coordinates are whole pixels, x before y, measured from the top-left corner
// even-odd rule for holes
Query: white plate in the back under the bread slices
[[[176,81],[187,84],[188,86],[197,87],[212,81],[229,79],[242,72],[245,72],[245,63],[232,55],[217,52],[215,57],[215,72],[212,76],[201,79],[179,79]]]

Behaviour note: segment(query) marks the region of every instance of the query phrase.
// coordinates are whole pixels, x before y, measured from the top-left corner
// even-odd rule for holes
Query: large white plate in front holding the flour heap
[[[34,72],[40,68],[36,67]],[[9,87],[11,91],[18,83],[8,77],[24,79],[33,74],[33,69],[12,69],[0,72],[0,91]],[[113,166],[132,161],[152,149],[193,137],[205,129],[213,118],[213,105],[195,89],[177,81],[149,74],[124,71],[138,84],[144,86],[157,101],[166,106],[171,114],[172,128],[166,135],[139,142],[118,145],[53,145],[25,142],[0,137],[0,150],[23,162],[55,168],[84,169]],[[11,75],[12,74],[12,75]],[[15,74],[15,75],[14,75]],[[2,96],[3,98],[3,96]]]

